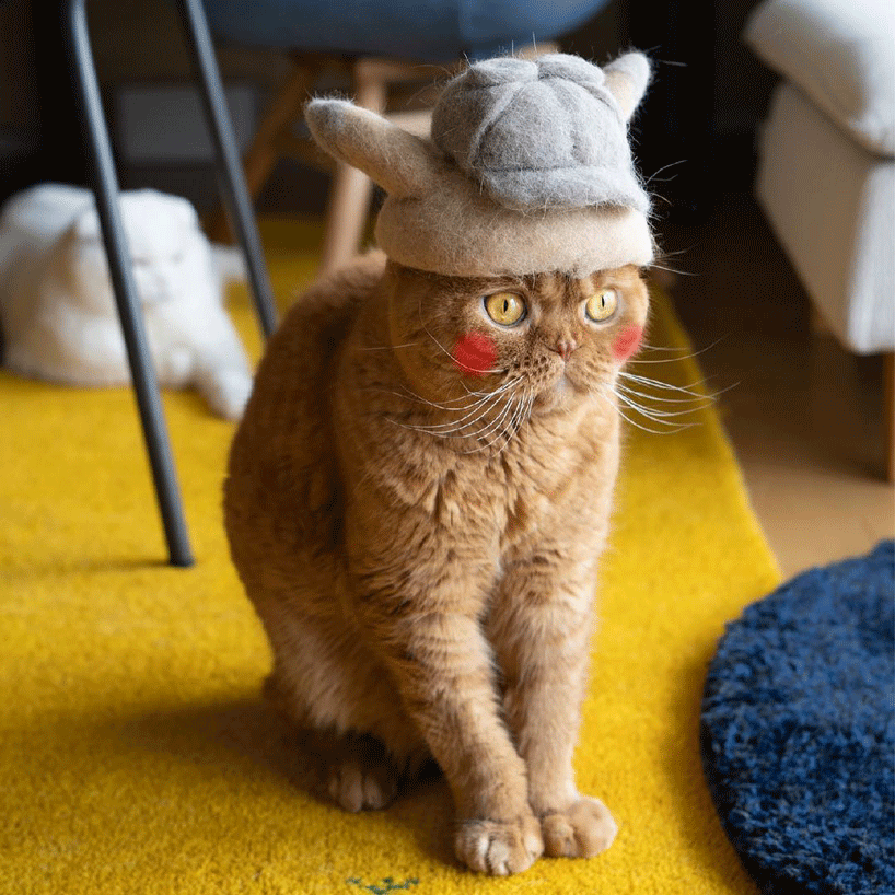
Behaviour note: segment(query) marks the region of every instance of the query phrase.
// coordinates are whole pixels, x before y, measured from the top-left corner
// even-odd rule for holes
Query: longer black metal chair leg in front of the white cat
[[[75,74],[77,92],[81,104],[96,209],[100,213],[112,284],[121,318],[121,329],[127,345],[133,388],[167,539],[171,565],[188,567],[193,565],[194,559],[189,548],[162,402],[159,396],[159,384],[149,356],[143,321],[137,301],[137,290],[133,284],[130,253],[121,224],[118,181],[100,98],[96,70],[93,65],[84,2],[85,0],[66,2],[63,27],[71,48],[71,68]]]

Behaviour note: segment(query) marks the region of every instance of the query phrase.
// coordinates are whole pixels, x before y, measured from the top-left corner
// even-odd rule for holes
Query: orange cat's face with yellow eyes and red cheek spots
[[[503,388],[537,410],[605,394],[647,321],[634,266],[583,279],[397,272],[392,344],[411,387],[433,402]]]

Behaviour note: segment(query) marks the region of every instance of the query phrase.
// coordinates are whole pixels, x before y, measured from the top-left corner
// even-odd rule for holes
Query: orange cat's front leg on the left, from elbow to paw
[[[377,609],[365,603],[369,630],[451,787],[457,858],[483,873],[519,873],[543,842],[524,763],[500,718],[490,649],[478,613],[451,612],[453,595],[432,590],[416,608],[404,597],[377,600]]]

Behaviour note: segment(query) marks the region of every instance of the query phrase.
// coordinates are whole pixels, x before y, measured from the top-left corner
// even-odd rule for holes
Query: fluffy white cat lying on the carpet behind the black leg
[[[120,210],[159,383],[196,387],[216,414],[237,419],[252,374],[196,210],[151,189],[123,193]],[[0,326],[4,365],[16,373],[73,385],[130,382],[90,190],[40,184],[7,202]]]

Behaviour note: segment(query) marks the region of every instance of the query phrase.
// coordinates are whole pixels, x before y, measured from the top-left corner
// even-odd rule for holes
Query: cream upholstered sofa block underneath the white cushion
[[[756,194],[821,316],[861,354],[895,350],[895,160],[789,83],[762,129]]]

